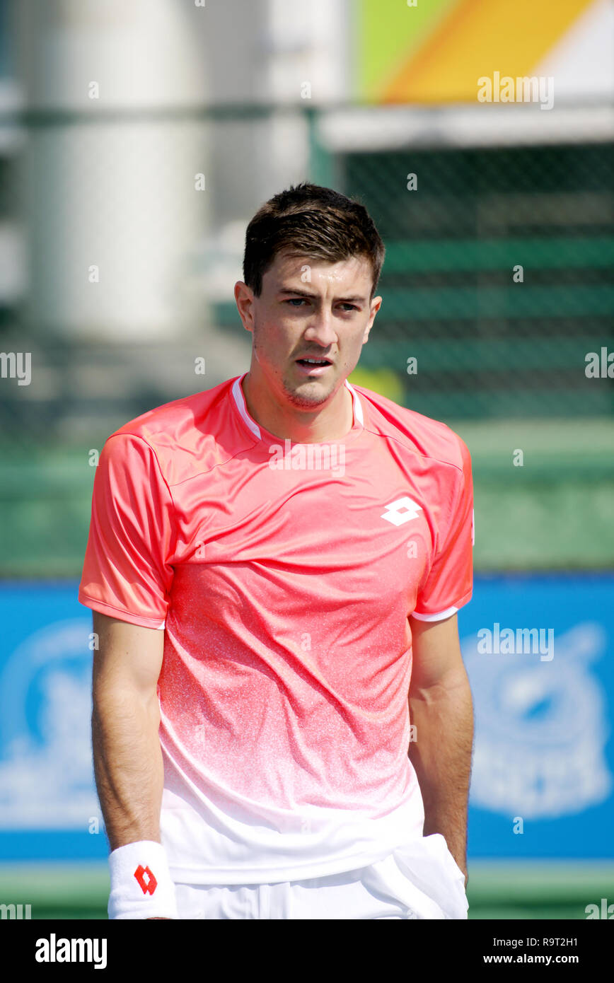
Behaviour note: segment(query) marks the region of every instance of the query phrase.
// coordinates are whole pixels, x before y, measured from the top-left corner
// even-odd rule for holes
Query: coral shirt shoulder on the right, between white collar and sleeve
[[[366,401],[366,429],[384,439],[397,440],[412,454],[464,471],[470,468],[468,448],[447,424],[399,406],[364,386],[352,385]]]

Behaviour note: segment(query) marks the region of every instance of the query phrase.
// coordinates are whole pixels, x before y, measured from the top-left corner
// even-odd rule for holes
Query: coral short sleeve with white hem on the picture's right
[[[450,507],[438,530],[435,556],[416,598],[412,617],[440,621],[471,600],[473,592],[473,482],[468,448],[460,444],[462,467],[450,487]],[[443,503],[444,504],[444,503]]]

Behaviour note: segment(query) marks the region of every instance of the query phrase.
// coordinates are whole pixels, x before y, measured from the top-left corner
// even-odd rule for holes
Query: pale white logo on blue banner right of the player
[[[602,627],[583,622],[557,635],[553,662],[480,654],[475,636],[461,647],[475,708],[471,805],[545,819],[603,802],[612,789],[606,703],[590,671]]]

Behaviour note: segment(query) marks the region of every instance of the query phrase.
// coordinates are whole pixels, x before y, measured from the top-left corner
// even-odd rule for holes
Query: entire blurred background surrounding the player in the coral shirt
[[[614,902],[613,36],[608,0],[0,0],[1,903],[106,917],[96,452],[248,370],[245,227],[302,180],[387,246],[350,381],[471,451],[469,917]]]

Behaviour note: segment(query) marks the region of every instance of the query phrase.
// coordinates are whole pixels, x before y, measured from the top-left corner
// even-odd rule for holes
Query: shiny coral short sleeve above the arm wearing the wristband
[[[146,628],[163,628],[173,568],[173,503],[153,448],[112,434],[93,480],[79,601]]]

